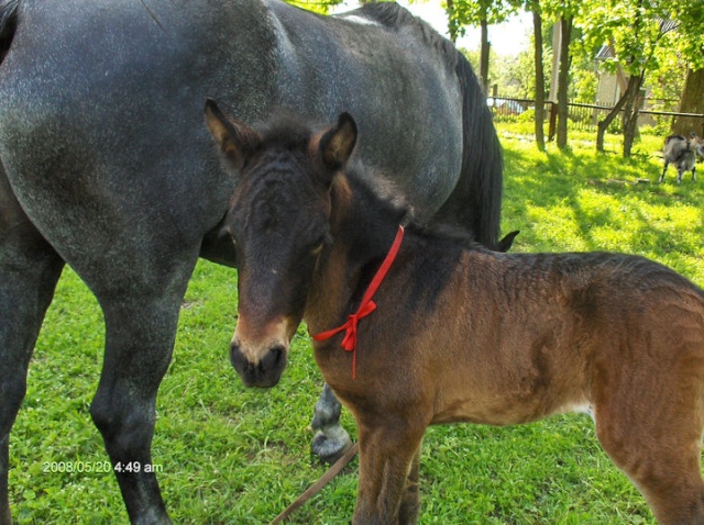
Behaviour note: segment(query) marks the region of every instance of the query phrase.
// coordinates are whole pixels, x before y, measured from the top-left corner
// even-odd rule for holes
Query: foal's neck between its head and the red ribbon
[[[339,325],[356,309],[404,214],[354,180],[340,177],[331,191],[334,241],[320,254],[314,273],[305,314],[311,333]]]

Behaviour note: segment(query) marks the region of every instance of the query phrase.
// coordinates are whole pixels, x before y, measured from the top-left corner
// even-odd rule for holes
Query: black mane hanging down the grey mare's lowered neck
[[[455,51],[462,90],[462,172],[439,212],[490,248],[498,246],[504,163],[486,97],[468,59]]]

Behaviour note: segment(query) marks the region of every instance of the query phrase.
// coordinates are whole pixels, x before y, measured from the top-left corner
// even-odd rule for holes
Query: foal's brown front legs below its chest
[[[418,456],[426,425],[414,424],[406,414],[374,414],[367,422],[364,417],[358,417],[358,426],[360,480],[352,524],[404,523],[399,522],[402,500],[413,500],[413,489],[407,482],[409,474],[417,479],[414,460]],[[409,516],[413,504],[409,506],[408,499],[403,512],[406,517],[413,517]]]

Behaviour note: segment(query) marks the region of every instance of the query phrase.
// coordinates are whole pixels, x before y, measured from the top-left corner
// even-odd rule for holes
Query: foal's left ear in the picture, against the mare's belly
[[[240,121],[228,119],[211,99],[206,100],[206,124],[223,155],[237,169],[242,168],[246,157],[262,142],[258,133]]]

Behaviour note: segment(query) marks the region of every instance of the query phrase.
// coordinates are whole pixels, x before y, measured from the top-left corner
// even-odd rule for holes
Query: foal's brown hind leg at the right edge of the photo
[[[694,359],[686,367],[679,373],[652,370],[658,388],[624,378],[595,411],[602,446],[662,525],[704,524],[704,377]]]

